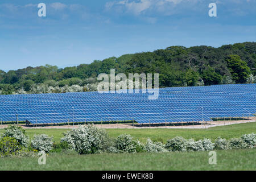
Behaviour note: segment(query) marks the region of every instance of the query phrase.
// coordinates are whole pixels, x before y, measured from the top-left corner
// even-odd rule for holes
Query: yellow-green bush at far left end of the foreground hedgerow
[[[15,138],[0,138],[0,156],[15,155],[20,150],[19,143]]]

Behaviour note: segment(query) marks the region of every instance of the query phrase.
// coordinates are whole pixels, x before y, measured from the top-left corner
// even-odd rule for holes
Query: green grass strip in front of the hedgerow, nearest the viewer
[[[0,170],[255,170],[256,150],[216,151],[217,164],[210,165],[209,151],[167,152],[162,154],[93,154],[47,156],[46,165],[38,158],[3,158]]]

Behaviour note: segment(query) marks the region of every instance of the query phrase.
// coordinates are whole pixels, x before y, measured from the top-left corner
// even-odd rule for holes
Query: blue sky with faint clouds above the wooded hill
[[[46,3],[46,17],[38,16]],[[209,3],[217,17],[208,15]],[[2,70],[92,63],[169,46],[255,42],[256,0],[0,1]]]

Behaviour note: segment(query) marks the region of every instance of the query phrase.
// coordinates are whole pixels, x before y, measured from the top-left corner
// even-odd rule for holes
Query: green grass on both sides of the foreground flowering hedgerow
[[[256,133],[256,123],[218,126],[209,129],[106,129],[110,137],[126,133],[144,142],[152,140],[166,142],[181,136],[202,139],[217,137],[226,139]],[[47,134],[59,142],[67,129],[26,129],[30,138],[34,134]],[[0,133],[3,129],[0,130]],[[0,170],[255,170],[256,149],[227,150],[217,152],[217,165],[210,165],[209,152],[167,152],[160,154],[93,154],[64,155],[50,153],[46,165],[39,165],[38,158],[2,158]]]

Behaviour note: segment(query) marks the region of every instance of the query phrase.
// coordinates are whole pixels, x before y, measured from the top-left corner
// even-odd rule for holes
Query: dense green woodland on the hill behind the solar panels
[[[72,62],[72,60],[71,60]],[[58,93],[97,89],[100,73],[159,73],[159,85],[197,86],[255,82],[256,43],[245,42],[219,48],[172,46],[94,60],[91,64],[64,69],[46,65],[16,71],[0,70],[0,93]]]

